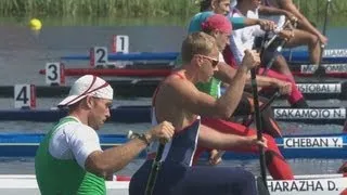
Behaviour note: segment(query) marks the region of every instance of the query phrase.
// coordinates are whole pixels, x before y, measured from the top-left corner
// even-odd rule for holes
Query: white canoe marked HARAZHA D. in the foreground
[[[296,176],[291,181],[269,181],[271,195],[338,195],[347,190],[347,176],[309,174]],[[128,195],[128,181],[106,182],[107,195]],[[33,174],[0,174],[0,194],[39,195]],[[347,192],[344,193],[346,195]]]

